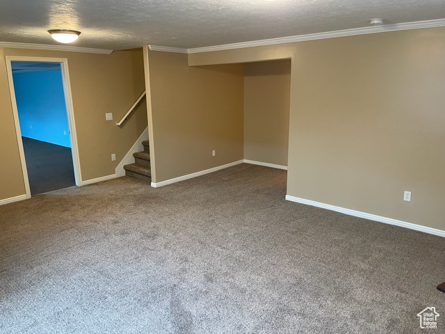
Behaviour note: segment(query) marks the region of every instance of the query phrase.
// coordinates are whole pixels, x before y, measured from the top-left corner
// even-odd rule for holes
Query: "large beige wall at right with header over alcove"
[[[191,54],[189,64],[273,56],[293,57],[287,193],[445,230],[445,28]]]

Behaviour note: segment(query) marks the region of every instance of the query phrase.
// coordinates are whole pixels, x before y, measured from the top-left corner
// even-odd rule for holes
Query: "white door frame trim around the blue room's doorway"
[[[12,61],[34,61],[40,63],[60,63],[60,71],[62,72],[63,93],[65,95],[65,108],[67,111],[68,130],[70,131],[72,164],[74,168],[74,180],[76,186],[81,186],[82,174],[79,158],[79,146],[77,145],[76,123],[74,121],[74,106],[72,102],[70,71],[68,70],[67,58],[49,58],[49,57],[25,57],[25,56],[6,56],[6,69],[8,72],[9,92],[11,104],[13,105],[13,116],[15,122],[15,134],[17,135],[17,144],[19,146],[20,161],[22,163],[23,180],[25,184],[26,198],[31,198],[31,190],[29,189],[28,170],[26,168],[26,159],[23,149],[22,132],[20,131],[19,112],[17,109],[17,101],[15,100],[15,89],[13,81]]]

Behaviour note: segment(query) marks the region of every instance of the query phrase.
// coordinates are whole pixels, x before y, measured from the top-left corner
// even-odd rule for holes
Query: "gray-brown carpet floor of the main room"
[[[0,333],[444,333],[445,239],[285,194],[241,164],[3,205]]]

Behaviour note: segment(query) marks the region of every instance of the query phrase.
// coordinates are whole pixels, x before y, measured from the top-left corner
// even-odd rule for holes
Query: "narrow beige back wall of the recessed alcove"
[[[287,166],[291,61],[246,63],[244,159]]]

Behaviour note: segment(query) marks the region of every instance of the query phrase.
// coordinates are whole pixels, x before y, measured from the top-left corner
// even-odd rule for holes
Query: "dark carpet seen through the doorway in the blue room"
[[[74,186],[71,148],[22,137],[31,195]]]

